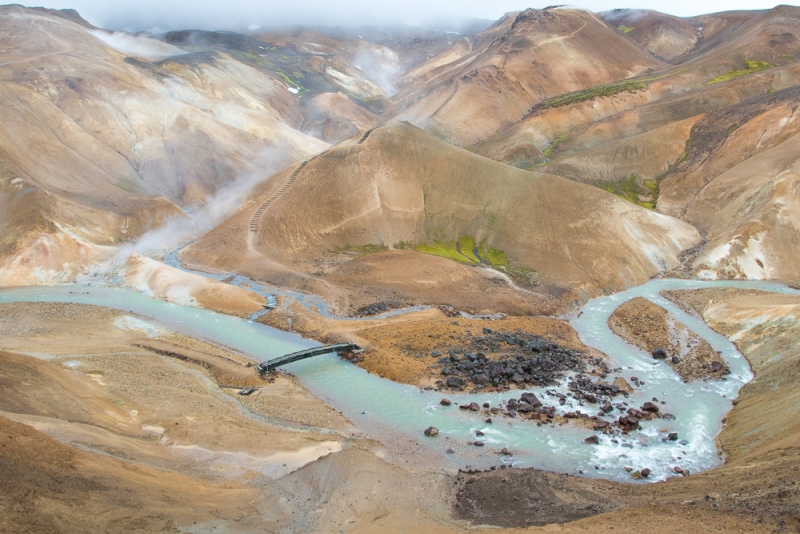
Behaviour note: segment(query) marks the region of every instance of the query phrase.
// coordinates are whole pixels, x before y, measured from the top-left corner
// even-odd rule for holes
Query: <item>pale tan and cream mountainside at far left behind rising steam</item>
[[[20,6],[0,8],[0,43],[4,284],[69,280],[237,180],[327,146],[297,130],[284,81],[223,53]]]

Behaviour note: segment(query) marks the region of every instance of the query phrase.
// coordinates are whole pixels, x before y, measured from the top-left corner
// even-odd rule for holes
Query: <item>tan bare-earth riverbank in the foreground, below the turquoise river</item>
[[[702,291],[718,290],[681,293],[708,302]],[[735,291],[740,290],[730,293]],[[25,430],[30,426],[15,427],[0,420],[14,436],[8,445],[13,443],[15,452],[5,458],[22,462],[22,444],[30,440],[46,449],[32,449],[35,456],[25,457],[24,462],[31,473],[43,477],[26,480],[45,488],[40,494],[49,504],[43,507],[45,501],[25,500],[9,489],[3,494],[17,495],[17,502],[22,498],[24,505],[11,509],[9,501],[0,500],[0,506],[14,525],[41,524],[26,510],[44,518],[58,511],[65,517],[64,530],[77,530],[70,525],[78,524],[78,514],[64,511],[64,506],[72,506],[68,499],[48,489],[55,487],[48,481],[76,476],[83,484],[84,502],[90,502],[95,512],[102,511],[93,517],[105,522],[93,526],[107,531],[135,530],[136,525],[162,530],[167,520],[180,525],[188,517],[204,528],[224,525],[234,532],[280,530],[278,521],[311,530],[335,525],[345,531],[425,528],[432,532],[461,531],[468,524],[462,521],[521,528],[575,520],[558,527],[563,532],[638,532],[644,525],[656,532],[762,532],[780,529],[781,521],[784,528],[800,526],[798,493],[792,484],[800,465],[795,438],[800,429],[793,421],[798,381],[792,374],[800,332],[791,319],[800,316],[800,300],[773,294],[736,296],[724,301],[715,297],[711,300],[716,306],[702,309],[709,324],[733,336],[756,373],[719,436],[727,463],[705,473],[693,471],[688,477],[636,486],[530,469],[495,468],[451,477],[425,462],[404,467],[404,459],[426,450],[430,445],[425,440],[431,438],[420,435],[408,440],[398,433],[389,448],[365,439],[349,421],[361,426],[356,418],[366,416],[353,412],[343,417],[318,400],[323,395],[312,396],[291,377],[280,377],[251,397],[220,389],[204,366],[132,345],[143,338],[151,343],[171,339],[164,342],[176,344],[186,335],[173,332],[178,337],[164,337],[170,329],[158,321],[96,306],[4,304],[0,306],[5,310],[0,315],[0,347],[6,351],[0,358],[4,385],[0,415],[43,433],[31,434]],[[499,330],[494,325],[502,322],[480,324]],[[241,358],[224,343],[182,348],[204,353],[208,361]],[[776,354],[781,358],[775,359]],[[339,363],[321,359],[298,362],[293,369],[313,390],[316,379],[309,369],[338,380],[331,371],[339,369]],[[356,393],[346,383],[342,387]],[[384,399],[400,400],[391,395]],[[453,409],[447,412],[448,420],[460,420],[461,410]],[[464,421],[469,429],[469,419]],[[500,424],[497,430],[503,430]],[[548,427],[546,432],[553,431]],[[45,434],[56,441],[48,441]],[[53,470],[62,445],[68,450],[80,447],[74,457],[77,463],[65,461],[63,469]],[[592,446],[579,447],[591,450]],[[455,448],[465,458],[481,458],[469,456],[470,449],[462,445]],[[510,452],[516,459],[517,451]],[[103,463],[109,457],[113,469]],[[300,467],[303,463],[306,466]],[[70,471],[75,465],[79,471]],[[129,471],[130,466],[138,466],[138,471]],[[284,474],[287,469],[289,474]],[[161,474],[165,470],[177,473]],[[144,478],[136,478],[142,473]],[[136,482],[151,475],[162,482],[150,487]],[[346,482],[326,483],[319,491],[304,489],[320,487],[322,480]],[[114,485],[124,493],[106,492],[103,500],[91,484]],[[122,500],[125,494],[134,498]],[[159,504],[164,494],[174,496],[171,508]],[[212,494],[218,498],[203,497]],[[78,510],[85,514],[81,506]],[[248,519],[235,519],[242,515]]]

